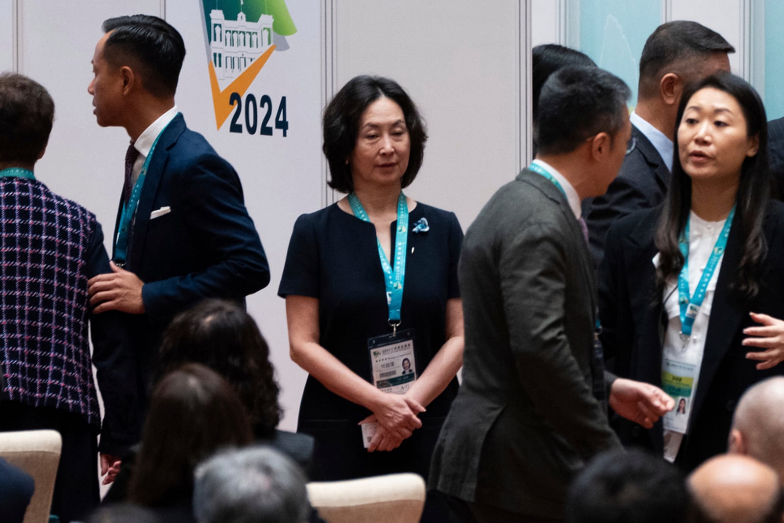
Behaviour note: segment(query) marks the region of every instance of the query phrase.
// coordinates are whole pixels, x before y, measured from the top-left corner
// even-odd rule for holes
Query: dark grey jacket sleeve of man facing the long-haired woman
[[[619,443],[566,334],[566,274],[580,270],[567,266],[564,245],[572,241],[554,225],[529,225],[502,249],[499,271],[521,384],[535,410],[590,456]]]

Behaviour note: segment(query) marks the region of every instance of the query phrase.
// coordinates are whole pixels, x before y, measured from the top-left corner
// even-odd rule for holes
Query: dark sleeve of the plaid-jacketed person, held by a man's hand
[[[89,241],[86,269],[89,278],[111,272],[99,223]],[[126,319],[127,315],[118,311],[90,318],[93,365],[104,406],[99,449],[114,456],[122,456],[139,441],[142,423],[143,391],[136,379],[136,360],[129,343],[132,336]]]

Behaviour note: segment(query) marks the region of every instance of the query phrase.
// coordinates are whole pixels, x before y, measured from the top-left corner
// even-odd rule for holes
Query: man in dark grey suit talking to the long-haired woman
[[[619,447],[606,395],[650,427],[673,401],[605,376],[596,279],[580,200],[607,189],[630,138],[630,91],[596,67],[543,87],[539,153],[499,189],[463,241],[463,384],[441,430],[430,487],[459,521],[562,521],[565,489]]]

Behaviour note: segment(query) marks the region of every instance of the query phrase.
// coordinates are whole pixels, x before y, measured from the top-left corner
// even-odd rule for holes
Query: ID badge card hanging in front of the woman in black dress
[[[373,386],[382,392],[405,394],[416,380],[414,329],[368,340]]]

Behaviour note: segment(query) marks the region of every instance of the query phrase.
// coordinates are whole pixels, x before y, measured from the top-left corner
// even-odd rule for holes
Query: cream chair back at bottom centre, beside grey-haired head
[[[329,523],[416,523],[425,504],[417,474],[389,474],[307,484],[310,504]]]

